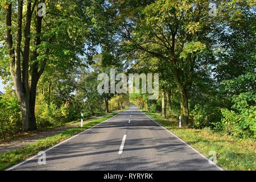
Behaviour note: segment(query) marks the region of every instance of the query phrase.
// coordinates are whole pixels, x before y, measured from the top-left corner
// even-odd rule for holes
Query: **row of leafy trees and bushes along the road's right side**
[[[206,0],[110,2],[131,72],[160,73],[152,108],[184,125],[256,137],[254,1],[214,1],[216,16]]]

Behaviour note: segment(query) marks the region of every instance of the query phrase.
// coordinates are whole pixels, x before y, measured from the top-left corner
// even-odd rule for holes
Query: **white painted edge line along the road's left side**
[[[121,113],[122,113],[122,112],[121,112]],[[103,122],[101,122],[101,123],[104,123],[104,122],[108,121],[109,119],[112,119],[112,118],[114,118],[115,116],[117,116],[117,115],[119,115],[119,114],[121,114],[121,113],[118,113],[118,114],[116,114],[116,115],[113,115],[113,117],[108,118],[108,119],[106,119],[105,121],[103,121]],[[95,126],[93,126],[93,127],[96,127],[96,126],[100,125],[101,123],[98,123],[97,125],[95,125]],[[60,142],[60,143],[56,144],[55,146],[52,146],[52,147],[48,148],[48,149],[45,150],[44,152],[47,152],[47,151],[49,151],[49,150],[52,150],[52,148],[55,148],[55,147],[57,147],[57,146],[59,146],[59,145],[65,143],[65,142],[68,142],[68,140],[71,140],[72,138],[75,138],[75,137],[81,135],[82,133],[85,133],[86,131],[92,129],[93,127],[90,127],[89,129],[86,129],[86,130],[82,131],[81,133],[76,134],[75,136],[73,136],[73,137],[71,137],[71,138],[68,138],[67,140],[64,140],[63,142]],[[32,156],[31,158],[28,158],[28,159],[24,160],[23,162],[20,162],[20,163],[16,164],[16,165],[13,166],[13,167],[7,168],[5,171],[10,171],[10,170],[12,170],[12,169],[14,169],[14,168],[16,168],[16,167],[18,167],[18,166],[20,166],[20,165],[22,165],[22,164],[28,162],[29,160],[32,160],[32,159],[36,158],[36,156],[38,156],[38,154],[35,154],[35,155]]]

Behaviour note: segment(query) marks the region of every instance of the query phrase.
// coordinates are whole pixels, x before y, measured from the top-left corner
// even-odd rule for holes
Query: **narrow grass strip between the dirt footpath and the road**
[[[98,118],[89,123],[84,124],[83,127],[75,127],[73,129],[68,129],[52,137],[40,139],[35,143],[29,144],[28,146],[19,148],[17,150],[5,152],[4,154],[0,155],[0,170],[9,168],[14,164],[29,158],[32,155],[38,154],[39,151],[52,147],[55,144],[62,142],[63,140],[72,137],[73,135],[79,134],[82,131],[89,129],[90,127],[96,126],[98,123],[104,122],[106,119],[109,119],[117,114],[118,113],[112,113],[106,115],[105,117]]]

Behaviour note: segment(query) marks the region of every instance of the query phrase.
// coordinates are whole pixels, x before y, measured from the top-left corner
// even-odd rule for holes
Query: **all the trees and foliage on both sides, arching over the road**
[[[134,103],[255,138],[255,10],[253,0],[0,0],[0,136]],[[113,68],[159,73],[157,100],[98,93]]]

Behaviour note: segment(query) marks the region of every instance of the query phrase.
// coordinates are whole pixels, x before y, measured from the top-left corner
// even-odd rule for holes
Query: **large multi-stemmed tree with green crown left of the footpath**
[[[50,63],[57,68],[74,65],[77,55],[83,54],[84,32],[90,25],[89,16],[84,14],[88,1],[48,2],[45,17],[38,14],[40,2],[1,1],[6,32],[1,49],[9,56],[9,67],[5,68],[10,71],[26,131],[36,129],[36,87],[45,68]]]

